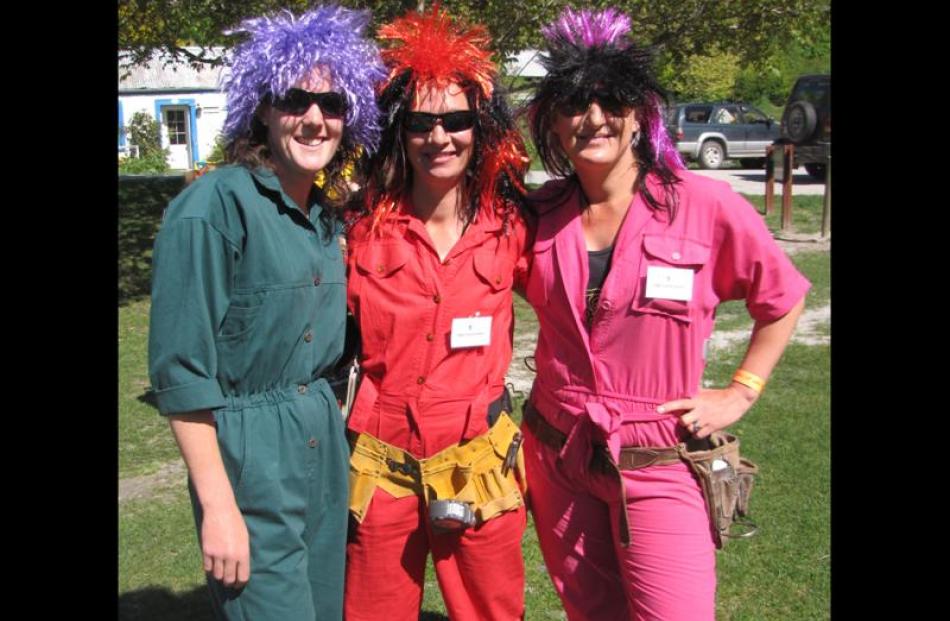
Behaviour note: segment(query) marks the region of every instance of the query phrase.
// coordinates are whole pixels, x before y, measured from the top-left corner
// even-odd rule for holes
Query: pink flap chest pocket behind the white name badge
[[[709,261],[709,247],[700,242],[664,235],[644,235],[640,259],[639,282],[633,296],[631,310],[637,313],[660,315],[682,323],[692,321],[690,310],[697,306],[696,292],[700,291],[696,275]],[[689,300],[648,298],[647,270],[650,267],[685,269],[693,272],[693,290]]]

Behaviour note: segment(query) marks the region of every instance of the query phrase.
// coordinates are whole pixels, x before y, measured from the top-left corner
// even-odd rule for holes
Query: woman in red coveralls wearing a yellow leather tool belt
[[[482,27],[436,7],[379,38],[388,126],[348,240],[363,378],[346,618],[417,619],[431,550],[454,621],[518,619],[525,506],[504,377],[527,157]]]

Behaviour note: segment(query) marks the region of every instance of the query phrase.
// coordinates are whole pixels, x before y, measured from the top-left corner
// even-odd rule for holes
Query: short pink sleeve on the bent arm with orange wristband
[[[772,238],[762,216],[736,195],[720,205],[718,220],[721,243],[713,276],[717,296],[745,300],[756,321],[787,314],[811,283]]]

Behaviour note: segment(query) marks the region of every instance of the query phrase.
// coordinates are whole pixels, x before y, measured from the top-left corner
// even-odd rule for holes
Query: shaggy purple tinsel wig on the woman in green
[[[314,67],[325,67],[334,90],[347,99],[346,130],[352,142],[372,152],[379,143],[375,86],[386,77],[379,50],[362,31],[369,11],[318,6],[300,17],[284,9],[273,17],[247,19],[225,34],[247,33],[234,48],[230,75],[222,80],[232,141],[251,131],[264,97],[281,97]]]

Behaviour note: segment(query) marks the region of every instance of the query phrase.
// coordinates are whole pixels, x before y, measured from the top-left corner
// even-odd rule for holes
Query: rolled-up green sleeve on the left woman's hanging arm
[[[215,336],[237,259],[237,247],[201,218],[166,222],[155,241],[149,378],[162,415],[225,405]]]

